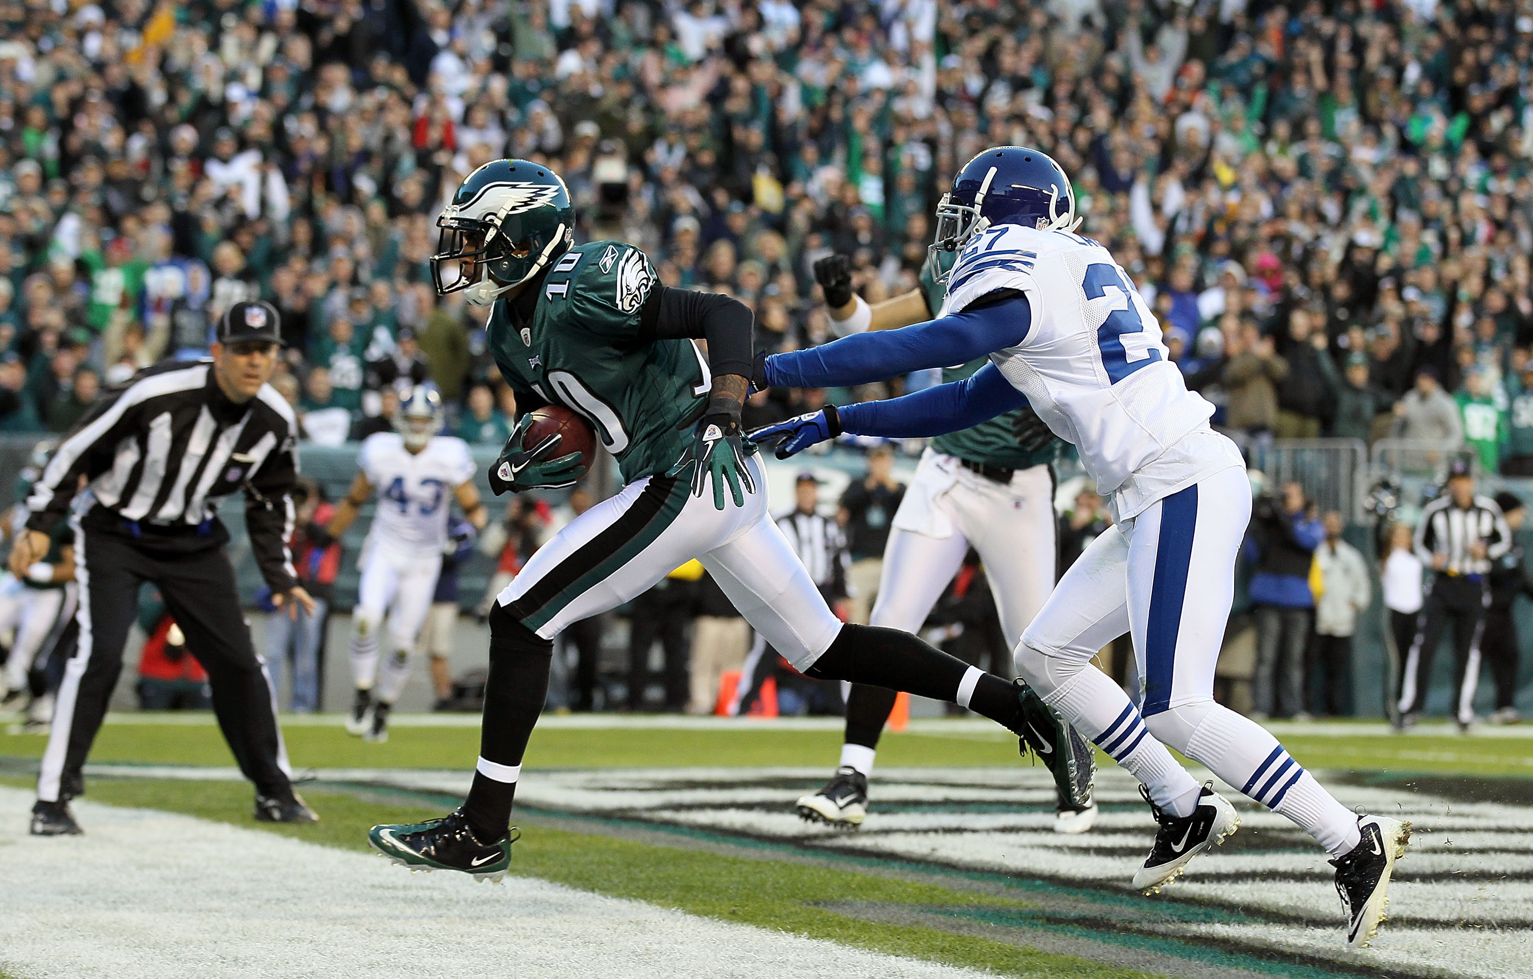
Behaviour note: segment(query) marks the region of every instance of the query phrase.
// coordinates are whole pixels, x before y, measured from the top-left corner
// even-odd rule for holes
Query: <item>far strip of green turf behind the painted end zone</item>
[[[1446,731],[1446,729],[1444,729]],[[389,742],[369,745],[339,726],[285,728],[297,768],[455,768],[478,755],[478,728],[396,726]],[[1456,775],[1533,777],[1533,740],[1443,735],[1285,735],[1283,745],[1305,766],[1378,772],[1447,772]],[[527,768],[681,768],[681,766],[826,766],[840,749],[834,729],[782,729],[742,722],[739,729],[540,728],[527,748]],[[46,740],[0,734],[0,758],[38,758]],[[107,723],[92,761],[146,765],[233,765],[212,723]],[[1101,765],[1111,765],[1099,757]],[[1004,731],[888,734],[878,746],[881,766],[1018,765],[1016,743]]]

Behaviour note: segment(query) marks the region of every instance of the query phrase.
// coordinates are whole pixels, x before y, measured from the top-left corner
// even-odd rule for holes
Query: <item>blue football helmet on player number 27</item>
[[[1024,146],[992,147],[954,178],[954,188],[937,204],[937,241],[927,251],[934,277],[938,251],[961,251],[975,234],[996,224],[1073,231],[1075,192],[1070,178],[1052,156]]]

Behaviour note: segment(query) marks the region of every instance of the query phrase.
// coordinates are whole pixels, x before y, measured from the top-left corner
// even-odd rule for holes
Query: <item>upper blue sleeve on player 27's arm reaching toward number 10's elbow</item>
[[[766,383],[773,388],[843,388],[967,363],[1016,346],[1032,322],[1032,305],[1016,294],[993,306],[964,309],[903,329],[860,332],[823,346],[773,354],[766,359]]]

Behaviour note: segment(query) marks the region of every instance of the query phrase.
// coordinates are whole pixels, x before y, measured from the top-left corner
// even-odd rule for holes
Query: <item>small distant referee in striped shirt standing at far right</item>
[[[1467,731],[1475,720],[1479,683],[1479,637],[1490,605],[1492,564],[1512,548],[1512,530],[1501,507],[1475,493],[1475,470],[1467,458],[1449,467],[1447,492],[1421,510],[1415,550],[1432,568],[1426,604],[1416,619],[1400,680],[1397,725],[1415,723],[1432,682],[1432,657],[1449,624],[1453,625],[1453,720]]]

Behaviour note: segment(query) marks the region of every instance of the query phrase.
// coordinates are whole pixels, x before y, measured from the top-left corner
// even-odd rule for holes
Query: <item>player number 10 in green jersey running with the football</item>
[[[494,303],[487,343],[518,412],[561,404],[583,415],[625,486],[560,530],[495,599],[480,758],[464,804],[442,820],[374,826],[374,847],[414,869],[504,876],[512,795],[547,693],[553,636],[691,558],[811,677],[957,702],[1013,732],[1056,725],[1024,686],[909,633],[843,625],[831,614],[768,515],[760,457],[740,434],[750,308],[661,285],[633,245],[576,245],[564,181],[535,162],[484,164],[437,225],[437,290]],[[693,339],[707,340],[708,362]],[[497,493],[581,476],[579,457],[558,453],[558,435],[526,449],[524,434],[526,420],[489,473]]]

